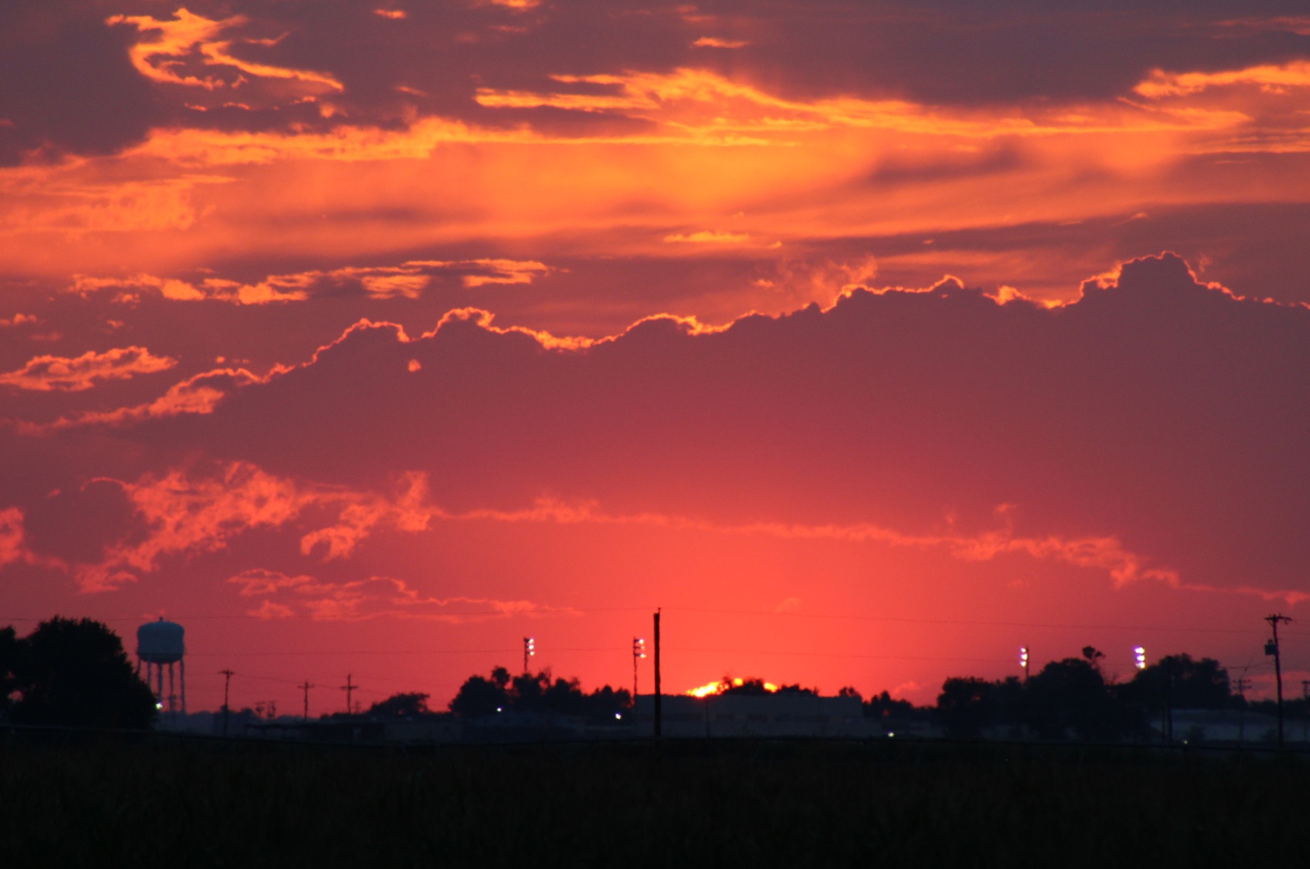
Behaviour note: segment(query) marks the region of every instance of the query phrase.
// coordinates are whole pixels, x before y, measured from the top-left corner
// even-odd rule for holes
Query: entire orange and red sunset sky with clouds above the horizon
[[[0,625],[1300,696],[1307,228],[1305,0],[5,0]]]

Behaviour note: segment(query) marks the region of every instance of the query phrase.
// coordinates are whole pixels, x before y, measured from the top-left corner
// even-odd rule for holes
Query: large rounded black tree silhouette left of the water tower
[[[149,686],[134,672],[118,634],[98,621],[55,616],[8,654],[17,724],[143,729],[155,720]]]

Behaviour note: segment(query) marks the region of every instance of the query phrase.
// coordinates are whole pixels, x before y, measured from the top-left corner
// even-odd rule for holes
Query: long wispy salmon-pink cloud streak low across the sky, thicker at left
[[[1102,571],[1116,587],[1155,581],[1184,591],[1226,591],[1288,603],[1310,599],[1310,595],[1290,590],[1254,586],[1220,589],[1184,582],[1178,571],[1151,565],[1150,558],[1128,550],[1114,535],[1090,537],[1022,535],[1014,528],[1009,506],[997,509],[998,522],[988,530],[972,533],[912,533],[875,523],[820,526],[786,522],[722,523],[659,512],[614,514],[603,510],[595,502],[566,503],[553,498],[541,498],[533,506],[521,510],[449,511],[430,501],[427,477],[418,472],[406,474],[394,495],[316,486],[269,474],[258,467],[240,463],[229,464],[221,469],[220,476],[170,472],[164,477],[145,477],[135,484],[118,482],[118,485],[131,499],[145,527],[145,535],[135,537],[130,544],[121,543],[110,548],[100,564],[77,566],[79,582],[86,591],[103,591],[132,581],[140,573],[153,571],[160,558],[170,554],[223,549],[234,537],[259,528],[279,530],[293,523],[320,524],[317,528],[300,532],[300,552],[304,556],[331,561],[352,556],[358,547],[380,528],[419,533],[428,531],[434,522],[490,522],[645,526],[711,535],[880,544],[937,549],[962,561],[992,561],[1019,554],[1034,561],[1056,561]],[[229,582],[242,585],[242,594],[246,595],[269,595],[279,589],[295,589],[300,594],[330,590],[308,577],[286,577],[267,571],[248,571]],[[358,590],[359,586],[350,589]],[[447,606],[432,599],[417,600],[411,592],[401,587],[396,591],[393,603],[409,600],[410,604]],[[350,594],[328,595],[322,596],[324,603],[314,606],[325,608],[325,612],[338,613],[322,617],[342,617],[339,613],[355,617],[362,604],[343,603],[352,599]]]

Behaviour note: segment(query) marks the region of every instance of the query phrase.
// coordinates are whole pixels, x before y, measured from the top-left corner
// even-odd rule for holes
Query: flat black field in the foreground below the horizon
[[[1303,866],[1310,763],[823,742],[0,746],[0,866]]]

